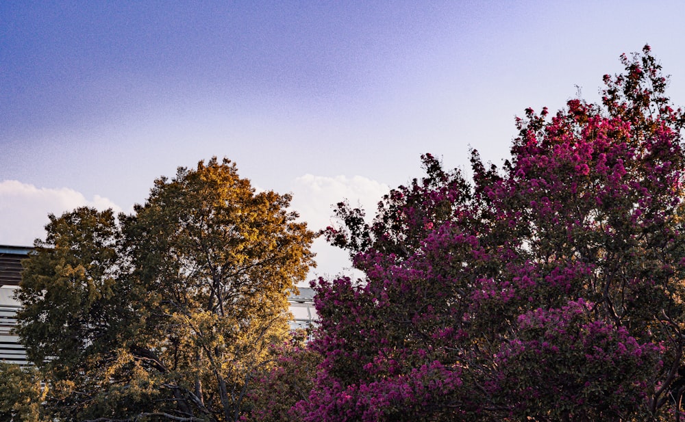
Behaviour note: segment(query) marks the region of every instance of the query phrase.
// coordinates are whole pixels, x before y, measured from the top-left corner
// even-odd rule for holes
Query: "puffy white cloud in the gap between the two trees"
[[[378,201],[390,191],[388,185],[362,176],[349,178],[305,174],[292,181],[291,187],[291,208],[299,212],[301,219],[308,222],[312,230],[321,230],[334,223],[333,207],[342,200],[362,207],[367,220],[371,220]],[[312,250],[316,252],[318,266],[310,272],[309,278],[341,273],[359,276],[349,269],[347,252],[330,246],[324,239],[316,239]]]

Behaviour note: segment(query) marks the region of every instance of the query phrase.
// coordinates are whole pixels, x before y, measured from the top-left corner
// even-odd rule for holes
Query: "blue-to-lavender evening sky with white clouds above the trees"
[[[680,1],[0,2],[0,244],[47,214],[131,212],[153,181],[228,157],[311,228],[422,176],[500,164],[526,107],[597,101],[649,43],[685,104]],[[314,276],[349,272],[314,243]]]

